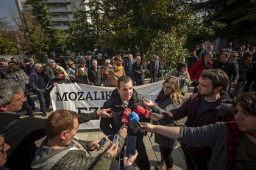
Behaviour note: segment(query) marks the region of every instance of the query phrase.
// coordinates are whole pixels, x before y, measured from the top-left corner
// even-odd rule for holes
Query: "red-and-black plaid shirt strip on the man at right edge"
[[[241,138],[241,131],[238,129],[238,125],[234,121],[226,122],[227,130],[227,161],[226,169],[231,169],[232,160],[235,158],[235,152],[238,148],[238,143]]]

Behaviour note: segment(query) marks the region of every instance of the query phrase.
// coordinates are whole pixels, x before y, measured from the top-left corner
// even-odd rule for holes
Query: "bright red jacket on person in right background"
[[[204,63],[204,58],[196,60],[196,62],[193,64],[193,66],[188,70],[189,75],[191,76],[191,80],[199,80],[202,71],[207,69],[213,68],[213,62],[207,62]]]

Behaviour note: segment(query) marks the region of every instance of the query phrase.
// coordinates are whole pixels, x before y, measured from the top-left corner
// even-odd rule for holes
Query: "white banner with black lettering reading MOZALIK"
[[[133,88],[146,99],[153,100],[162,88],[163,81]],[[90,86],[86,84],[58,84],[51,90],[51,103],[55,110],[66,109],[81,114],[100,111],[103,103],[110,98],[115,87]],[[99,129],[99,119],[79,125],[79,129]]]

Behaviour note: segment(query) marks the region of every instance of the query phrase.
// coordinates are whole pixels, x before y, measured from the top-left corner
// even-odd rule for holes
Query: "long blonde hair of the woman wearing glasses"
[[[163,84],[166,84],[166,83],[170,84],[171,88],[174,89],[174,91],[170,94],[170,100],[173,103],[177,103],[177,104],[181,105],[182,104],[182,100],[183,100],[184,97],[180,93],[179,83],[178,83],[177,78],[175,78],[175,77],[168,77],[163,82]],[[158,95],[161,95],[161,94],[163,94],[163,87],[160,90]]]

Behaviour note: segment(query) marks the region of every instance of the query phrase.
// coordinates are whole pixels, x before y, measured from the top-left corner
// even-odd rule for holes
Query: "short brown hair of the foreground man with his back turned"
[[[74,128],[74,119],[79,117],[75,111],[60,109],[46,119],[45,131],[48,138],[54,138],[65,130]]]

